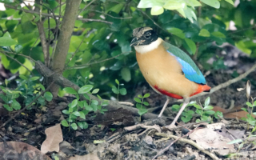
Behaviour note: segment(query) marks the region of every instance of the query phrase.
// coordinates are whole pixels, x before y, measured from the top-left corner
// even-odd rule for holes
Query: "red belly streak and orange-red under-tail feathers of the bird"
[[[162,90],[162,89],[158,88],[158,86],[154,86],[154,88],[155,88],[156,90],[158,90],[161,94],[165,94],[165,95],[167,95],[167,96],[169,96],[169,97],[171,97],[171,98],[183,99],[182,96],[177,95],[177,94],[169,93],[169,92],[167,92],[166,90]],[[193,96],[193,95],[195,95],[195,94],[200,94],[200,93],[203,92],[203,91],[210,91],[210,86],[207,86],[207,85],[198,85],[198,90],[196,90],[196,91],[194,92],[194,94],[191,94],[190,97]]]

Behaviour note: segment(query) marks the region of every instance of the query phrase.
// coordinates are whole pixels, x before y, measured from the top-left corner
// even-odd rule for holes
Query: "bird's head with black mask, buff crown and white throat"
[[[150,27],[139,27],[133,31],[134,39],[130,42],[130,46],[134,46],[139,53],[146,53],[154,50],[161,42],[158,34]]]

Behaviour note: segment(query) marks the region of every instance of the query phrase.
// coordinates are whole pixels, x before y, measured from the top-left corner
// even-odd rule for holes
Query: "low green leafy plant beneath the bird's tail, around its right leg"
[[[214,107],[209,106],[209,104],[210,104],[210,97],[206,98],[203,107],[201,105],[198,105],[196,102],[190,102],[186,106],[185,110],[182,112],[182,122],[190,122],[190,120],[193,118],[194,111],[189,110],[188,106],[194,106],[196,108],[195,112],[200,115],[200,119],[197,119],[196,122],[211,122],[212,121],[211,116],[214,116],[214,118],[216,119],[222,118],[223,117],[222,112],[220,111],[214,112],[214,110],[212,110]],[[172,110],[178,111],[181,107],[182,107],[182,104],[173,105]]]

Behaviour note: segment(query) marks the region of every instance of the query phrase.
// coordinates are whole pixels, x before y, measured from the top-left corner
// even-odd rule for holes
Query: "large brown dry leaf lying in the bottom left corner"
[[[0,159],[51,160],[46,154],[25,142],[0,142]]]

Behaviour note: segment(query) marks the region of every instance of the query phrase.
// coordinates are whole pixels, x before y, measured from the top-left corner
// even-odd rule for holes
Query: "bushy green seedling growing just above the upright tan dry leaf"
[[[81,129],[87,129],[88,123],[78,122],[79,118],[86,119],[86,115],[90,111],[99,112],[101,114],[104,114],[104,112],[107,111],[105,108],[102,108],[102,106],[107,106],[108,101],[102,100],[102,98],[97,94],[99,89],[92,90],[93,88],[94,86],[92,85],[85,85],[82,86],[78,91],[70,87],[63,89],[67,94],[74,94],[76,99],[70,102],[67,110],[62,110],[62,113],[68,116],[68,118],[62,120],[62,126],[71,127],[73,130],[77,130],[78,126]],[[90,90],[92,90],[92,92],[90,92]],[[92,94],[97,94],[100,102],[91,99],[90,95]],[[80,96],[83,96],[87,100],[81,100]]]

